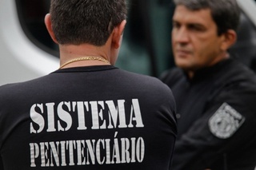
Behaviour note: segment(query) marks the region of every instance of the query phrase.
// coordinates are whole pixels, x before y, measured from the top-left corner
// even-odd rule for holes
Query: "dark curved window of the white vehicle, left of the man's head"
[[[16,5],[22,29],[30,41],[58,57],[58,46],[52,42],[44,24],[50,0],[16,0]]]

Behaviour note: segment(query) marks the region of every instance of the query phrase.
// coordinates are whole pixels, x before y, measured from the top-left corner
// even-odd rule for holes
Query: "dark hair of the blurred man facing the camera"
[[[240,9],[236,0],[174,0],[176,6],[182,5],[190,10],[210,9],[211,16],[218,27],[218,35],[227,30],[237,31]]]

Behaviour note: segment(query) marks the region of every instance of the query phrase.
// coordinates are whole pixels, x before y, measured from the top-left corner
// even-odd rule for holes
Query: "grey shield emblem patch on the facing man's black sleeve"
[[[227,139],[240,128],[245,121],[235,109],[230,105],[223,103],[222,106],[214,113],[208,122],[210,132],[221,139]]]

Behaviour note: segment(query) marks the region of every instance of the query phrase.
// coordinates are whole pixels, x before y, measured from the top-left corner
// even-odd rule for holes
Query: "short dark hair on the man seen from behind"
[[[51,0],[50,14],[59,44],[101,46],[127,10],[125,0]]]

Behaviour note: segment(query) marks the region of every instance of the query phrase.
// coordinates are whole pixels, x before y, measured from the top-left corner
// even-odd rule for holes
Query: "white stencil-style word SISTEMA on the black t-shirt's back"
[[[66,132],[72,126],[77,130],[144,127],[138,99],[118,100],[116,105],[114,101],[34,104],[30,108],[30,118],[30,133],[36,134],[44,130]]]

